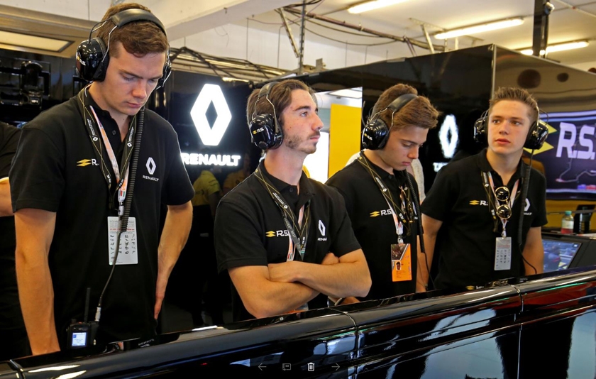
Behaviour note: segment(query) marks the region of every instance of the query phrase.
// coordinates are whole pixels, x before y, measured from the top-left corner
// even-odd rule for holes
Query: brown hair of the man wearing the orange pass
[[[395,84],[393,87],[385,89],[381,94],[375,106],[373,106],[373,116],[383,109],[386,109],[398,97],[404,94],[418,94],[418,91],[407,84]],[[387,126],[394,129],[402,129],[406,126],[414,125],[419,128],[432,129],[436,127],[439,112],[432,106],[431,101],[424,96],[416,97],[393,114],[391,120],[391,111],[384,111],[379,114],[380,119],[385,121]]]

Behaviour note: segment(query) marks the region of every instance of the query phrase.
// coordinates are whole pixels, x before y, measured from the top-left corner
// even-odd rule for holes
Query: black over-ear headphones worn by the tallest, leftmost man
[[[99,28],[102,28],[108,21],[114,23],[114,28],[112,28],[109,35],[111,35],[111,32],[114,31],[114,29],[135,21],[150,21],[155,23],[155,25],[157,25],[165,34],[165,27],[161,21],[155,17],[153,13],[144,11],[143,9],[126,9],[126,11],[118,12],[109,19],[101,21],[96,25],[101,24],[99,25]],[[89,32],[89,40],[84,40],[77,48],[77,71],[79,72],[79,77],[87,80],[87,82],[92,80],[101,82],[104,80],[110,61],[108,54],[110,41],[108,40],[108,45],[106,47],[104,40],[101,40],[101,38],[91,38],[91,34],[99,28],[92,28]],[[171,72],[172,62],[170,62],[170,51],[167,51],[165,65],[163,65],[163,75],[158,80],[158,86],[156,88],[163,87],[164,82],[167,80],[167,77],[170,76]]]

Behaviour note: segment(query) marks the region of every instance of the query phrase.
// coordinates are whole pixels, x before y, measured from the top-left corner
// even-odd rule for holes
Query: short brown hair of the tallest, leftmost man
[[[101,21],[109,20],[111,16],[127,9],[143,9],[151,12],[146,6],[136,3],[123,3],[111,6]],[[170,50],[170,43],[167,42],[167,36],[152,21],[134,21],[126,23],[120,28],[115,28],[114,23],[107,21],[97,31],[97,36],[104,40],[106,47],[109,46],[109,55],[118,56],[115,48],[116,43],[122,43],[123,48],[128,53],[143,57],[149,53],[167,53]],[[111,31],[111,33],[110,33]]]

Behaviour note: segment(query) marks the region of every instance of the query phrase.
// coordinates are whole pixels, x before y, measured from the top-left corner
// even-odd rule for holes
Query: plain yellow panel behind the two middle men
[[[329,122],[329,177],[360,151],[360,114],[355,106],[331,104]]]

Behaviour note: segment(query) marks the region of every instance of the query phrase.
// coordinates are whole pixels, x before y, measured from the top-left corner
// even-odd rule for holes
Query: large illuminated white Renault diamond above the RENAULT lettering
[[[213,127],[209,125],[207,121],[206,112],[209,108],[209,104],[213,101],[213,105],[217,112],[217,118],[213,124]],[[223,97],[221,88],[216,84],[205,84],[197,101],[194,102],[194,106],[190,110],[190,116],[194,122],[194,127],[197,128],[199,137],[205,145],[216,146],[219,145],[219,141],[223,137],[223,133],[226,133],[226,129],[232,119],[232,114],[226,103],[226,98]]]

